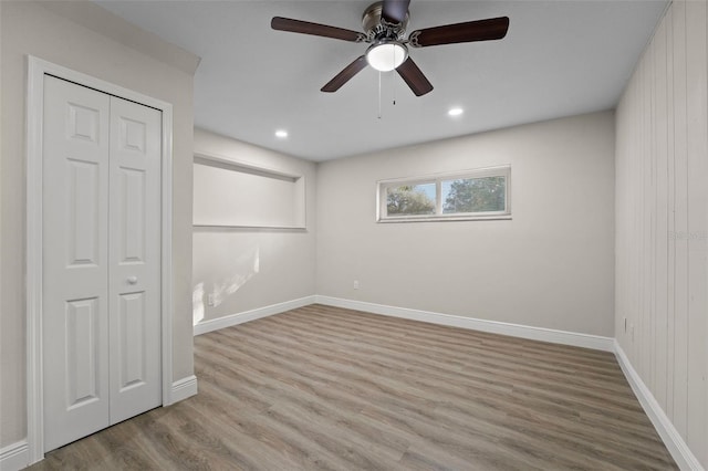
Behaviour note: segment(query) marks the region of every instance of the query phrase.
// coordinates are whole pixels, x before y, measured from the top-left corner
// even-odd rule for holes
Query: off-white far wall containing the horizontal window
[[[510,221],[375,222],[379,179],[503,164]],[[613,336],[613,244],[611,112],[317,168],[320,295]]]

